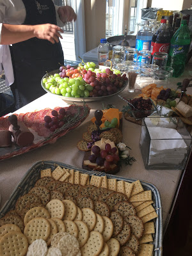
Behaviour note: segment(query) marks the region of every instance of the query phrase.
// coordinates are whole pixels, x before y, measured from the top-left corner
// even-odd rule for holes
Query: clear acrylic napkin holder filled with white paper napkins
[[[146,117],[140,150],[147,170],[183,170],[191,152],[191,134],[180,118]]]

